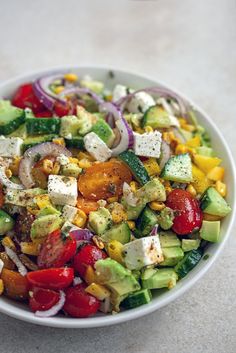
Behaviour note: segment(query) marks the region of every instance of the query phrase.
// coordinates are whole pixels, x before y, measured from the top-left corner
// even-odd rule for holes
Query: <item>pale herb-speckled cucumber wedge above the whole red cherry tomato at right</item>
[[[188,153],[171,157],[162,169],[161,178],[164,180],[189,183],[192,181],[192,164]]]

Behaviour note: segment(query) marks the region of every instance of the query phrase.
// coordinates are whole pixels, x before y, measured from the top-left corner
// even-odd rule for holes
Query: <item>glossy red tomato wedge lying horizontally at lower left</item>
[[[49,268],[28,272],[29,283],[45,289],[63,289],[69,287],[74,279],[74,270],[70,267]]]

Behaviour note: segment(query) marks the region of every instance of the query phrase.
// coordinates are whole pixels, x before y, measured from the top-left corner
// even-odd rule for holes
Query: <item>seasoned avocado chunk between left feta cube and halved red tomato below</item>
[[[60,228],[62,219],[57,214],[49,214],[34,220],[31,227],[30,237],[33,242],[43,242],[45,237]]]

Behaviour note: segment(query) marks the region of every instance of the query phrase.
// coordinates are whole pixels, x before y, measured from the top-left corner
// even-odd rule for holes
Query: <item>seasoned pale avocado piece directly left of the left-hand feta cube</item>
[[[47,193],[46,190],[43,190],[40,188],[26,189],[26,190],[9,189],[7,190],[7,193],[5,196],[5,203],[10,203],[12,205],[23,206],[23,207],[33,206],[34,196],[46,194],[46,193]]]

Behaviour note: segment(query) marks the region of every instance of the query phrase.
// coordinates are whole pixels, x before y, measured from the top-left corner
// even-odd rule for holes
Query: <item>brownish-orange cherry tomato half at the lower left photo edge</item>
[[[1,279],[4,283],[5,294],[8,297],[16,300],[25,300],[28,298],[29,282],[19,272],[3,268]]]

